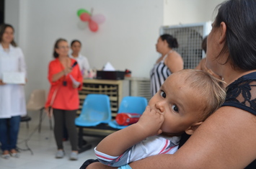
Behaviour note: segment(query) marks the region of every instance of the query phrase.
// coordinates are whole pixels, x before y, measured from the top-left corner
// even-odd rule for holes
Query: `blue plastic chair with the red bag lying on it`
[[[118,114],[120,113],[137,113],[143,114],[148,105],[146,98],[141,96],[126,96],[122,99],[121,104],[118,109]],[[115,129],[124,129],[127,126],[119,125],[115,120],[108,123],[108,125]]]

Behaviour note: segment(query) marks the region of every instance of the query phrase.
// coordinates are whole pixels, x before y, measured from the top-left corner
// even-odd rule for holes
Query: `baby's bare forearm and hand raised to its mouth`
[[[144,114],[136,124],[108,135],[97,145],[96,150],[107,155],[119,156],[129,147],[136,145],[146,137],[160,134],[162,131],[159,128],[162,126],[163,121],[162,114],[146,106]]]

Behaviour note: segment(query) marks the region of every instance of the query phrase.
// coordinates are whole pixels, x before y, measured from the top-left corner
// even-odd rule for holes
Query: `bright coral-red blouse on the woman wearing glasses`
[[[71,65],[75,62],[76,60],[71,59]],[[50,82],[50,91],[45,107],[51,106],[53,109],[63,110],[79,109],[78,90],[81,90],[83,81],[79,65],[75,65],[74,68],[72,68],[71,73],[59,78],[58,81],[53,82],[53,75],[63,70],[64,67],[58,58],[49,63],[48,80]],[[73,76],[76,81],[80,82],[79,88],[73,88],[73,82],[70,76]],[[63,81],[66,81],[66,86],[63,85]]]

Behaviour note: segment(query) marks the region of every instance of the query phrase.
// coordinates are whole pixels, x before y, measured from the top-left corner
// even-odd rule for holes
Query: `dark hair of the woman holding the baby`
[[[233,68],[256,69],[256,1],[229,0],[216,7],[218,9],[213,27],[226,24],[226,44],[219,53],[229,52]],[[226,60],[226,61],[227,61]]]

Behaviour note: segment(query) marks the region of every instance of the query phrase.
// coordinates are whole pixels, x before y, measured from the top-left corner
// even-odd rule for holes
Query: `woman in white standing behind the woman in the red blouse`
[[[81,74],[84,75],[84,72],[89,70],[89,62],[85,56],[80,54],[81,42],[79,40],[73,40],[71,42],[71,50],[72,53],[69,55],[69,57],[77,61]]]

